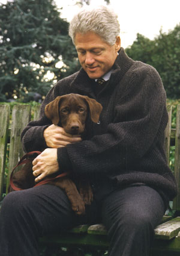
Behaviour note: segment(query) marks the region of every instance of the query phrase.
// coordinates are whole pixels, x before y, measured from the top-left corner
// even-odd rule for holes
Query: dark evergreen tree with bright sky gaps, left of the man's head
[[[14,0],[0,7],[0,101],[46,95],[55,81],[79,69],[68,22],[53,0]]]

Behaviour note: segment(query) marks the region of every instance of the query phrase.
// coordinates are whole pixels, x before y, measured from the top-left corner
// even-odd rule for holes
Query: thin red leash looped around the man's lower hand
[[[23,190],[23,189],[20,189],[20,187],[16,187],[13,183],[13,173],[14,173],[14,170],[22,165],[22,164],[26,164],[28,163],[29,161],[31,161],[32,159],[31,158],[27,158],[27,157],[31,157],[31,155],[34,155],[34,154],[38,154],[40,155],[41,152],[40,151],[31,151],[31,152],[28,152],[26,153],[25,155],[23,155],[23,157],[20,159],[19,163],[14,167],[13,171],[11,172],[11,176],[10,176],[10,186],[12,187],[13,190],[15,191],[19,191],[19,190]],[[46,180],[43,180],[43,181],[40,181],[39,183],[35,184],[34,187],[37,187],[37,186],[40,186],[40,185],[43,185],[43,184],[47,184],[49,183],[49,181],[52,181],[52,180],[56,180],[57,178],[60,178],[60,177],[64,177],[64,176],[67,176],[68,175],[68,172],[64,172],[64,173],[61,173],[53,178],[47,178]]]

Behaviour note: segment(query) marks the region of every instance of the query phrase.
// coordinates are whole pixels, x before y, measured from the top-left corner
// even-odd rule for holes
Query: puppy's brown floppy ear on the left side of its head
[[[56,97],[52,102],[46,105],[44,112],[48,119],[52,120],[54,125],[59,123],[59,101],[62,96]]]

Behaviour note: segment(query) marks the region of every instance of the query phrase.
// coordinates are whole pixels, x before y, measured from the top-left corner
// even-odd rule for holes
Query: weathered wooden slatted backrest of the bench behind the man
[[[180,186],[180,105],[177,107],[176,129],[171,128],[172,106],[167,106],[169,122],[165,131],[164,147],[170,164],[170,146],[175,145],[175,169],[174,174]],[[38,119],[40,105],[37,105],[34,113],[34,120]],[[20,142],[20,134],[23,128],[31,120],[32,110],[30,105],[14,105],[10,118],[10,106],[0,105],[0,200],[4,187],[8,187],[11,171],[24,154]],[[9,147],[9,154],[7,148]],[[8,158],[8,167],[5,171],[5,161]],[[4,179],[6,177],[7,179]],[[5,181],[7,180],[7,181]],[[7,189],[6,189],[7,191]],[[180,192],[173,201],[173,209],[180,210]]]

